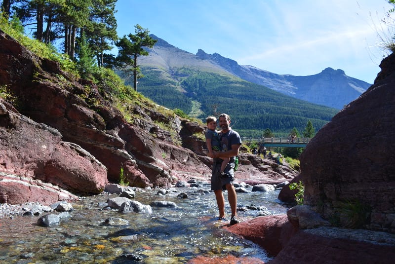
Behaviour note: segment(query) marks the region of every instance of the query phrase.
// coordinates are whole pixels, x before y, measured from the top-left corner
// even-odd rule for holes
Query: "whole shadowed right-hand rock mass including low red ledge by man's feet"
[[[395,55],[380,67],[300,156],[305,205],[229,227],[277,254],[270,263],[394,262]]]

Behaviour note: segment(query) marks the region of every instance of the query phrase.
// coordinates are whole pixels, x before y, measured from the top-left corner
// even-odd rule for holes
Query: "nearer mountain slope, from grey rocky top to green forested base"
[[[317,131],[338,112],[243,80],[226,65],[157,39],[149,55],[139,60],[145,77],[139,79],[137,90],[159,105],[203,120],[229,113],[232,127],[244,136],[262,136],[267,128],[286,136],[293,127],[302,131],[308,120]]]

